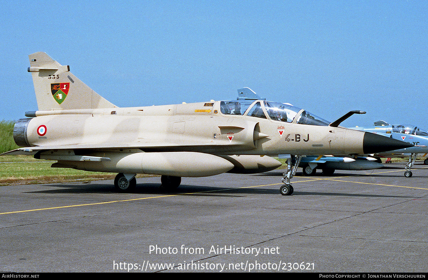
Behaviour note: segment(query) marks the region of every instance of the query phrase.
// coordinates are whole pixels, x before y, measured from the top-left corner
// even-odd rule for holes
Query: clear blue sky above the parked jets
[[[5,1],[1,119],[37,109],[48,53],[119,107],[235,99],[249,87],[342,125],[428,129],[428,2]]]

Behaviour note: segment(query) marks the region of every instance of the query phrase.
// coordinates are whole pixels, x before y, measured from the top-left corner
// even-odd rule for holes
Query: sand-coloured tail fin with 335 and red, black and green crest
[[[116,107],[71,74],[68,65],[59,64],[43,52],[28,57],[39,110]]]

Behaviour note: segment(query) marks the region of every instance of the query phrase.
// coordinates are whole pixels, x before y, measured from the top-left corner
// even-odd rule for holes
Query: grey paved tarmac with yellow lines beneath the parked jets
[[[0,271],[426,272],[427,169],[2,186]]]

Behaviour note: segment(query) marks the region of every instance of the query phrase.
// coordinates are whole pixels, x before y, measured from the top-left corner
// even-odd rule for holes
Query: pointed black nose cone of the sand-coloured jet
[[[388,138],[370,132],[364,133],[363,151],[365,154],[400,150],[409,147],[413,147],[413,145],[404,141]]]

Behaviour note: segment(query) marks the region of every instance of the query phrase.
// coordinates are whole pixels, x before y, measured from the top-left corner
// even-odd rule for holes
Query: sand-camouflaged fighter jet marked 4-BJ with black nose
[[[118,173],[121,191],[135,187],[136,174],[161,175],[164,188],[181,177],[223,172],[259,173],[281,163],[288,169],[282,195],[291,195],[291,155],[366,154],[411,145],[338,127],[283,103],[259,100],[249,88],[238,100],[118,108],[46,53],[29,56],[38,111],[14,127],[22,148],[3,154],[30,154],[56,160],[52,167]],[[289,156],[286,156],[289,155]],[[298,161],[298,160],[297,160]]]

